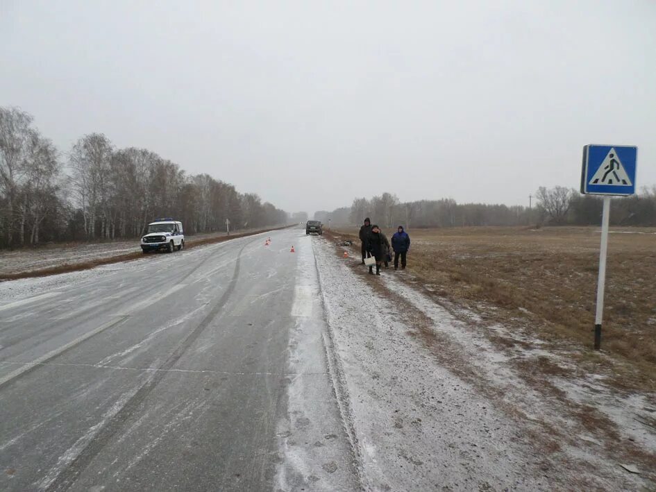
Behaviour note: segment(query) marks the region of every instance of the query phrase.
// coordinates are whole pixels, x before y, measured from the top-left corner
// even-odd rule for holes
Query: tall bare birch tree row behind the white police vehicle
[[[0,248],[47,241],[135,238],[158,217],[185,234],[287,223],[287,212],[208,174],[190,175],[101,133],[60,152],[17,108],[0,107]]]

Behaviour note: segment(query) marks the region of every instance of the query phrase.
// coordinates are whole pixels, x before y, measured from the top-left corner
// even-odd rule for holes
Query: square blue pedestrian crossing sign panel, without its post
[[[581,193],[629,196],[635,193],[638,148],[626,145],[583,147]]]

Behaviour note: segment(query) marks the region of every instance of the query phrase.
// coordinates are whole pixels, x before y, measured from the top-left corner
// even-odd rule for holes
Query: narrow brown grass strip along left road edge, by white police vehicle
[[[205,244],[215,244],[215,243],[221,243],[224,241],[230,241],[230,239],[237,239],[239,237],[247,237],[247,236],[253,236],[256,234],[261,234],[262,232],[270,232],[271,230],[280,230],[280,229],[285,229],[285,227],[279,227],[279,228],[273,228],[273,229],[262,229],[262,230],[255,230],[255,231],[250,231],[250,232],[244,232],[242,234],[233,234],[230,236],[215,236],[215,237],[207,237],[203,236],[199,239],[194,239],[193,236],[189,236],[185,238],[185,249],[191,249],[191,248],[196,248],[197,246],[203,246]],[[138,239],[135,240],[135,244],[137,244]],[[137,244],[138,246],[138,244]],[[151,253],[155,254],[155,253]],[[112,264],[112,263],[119,263],[119,262],[129,262],[133,260],[139,260],[140,258],[144,258],[145,255],[140,251],[137,253],[127,253],[124,255],[112,255],[110,257],[106,258],[96,258],[94,260],[87,260],[87,261],[81,261],[81,262],[72,262],[72,263],[65,263],[65,264],[60,264],[58,266],[52,266],[50,268],[45,268],[45,269],[38,269],[38,270],[31,270],[31,271],[17,271],[15,273],[8,273],[8,274],[1,274],[0,275],[0,282],[3,280],[17,280],[19,278],[35,278],[35,277],[45,277],[47,275],[56,275],[58,273],[69,273],[72,271],[81,271],[81,270],[88,270],[92,269],[96,266],[101,266],[101,265],[106,265],[106,264]]]

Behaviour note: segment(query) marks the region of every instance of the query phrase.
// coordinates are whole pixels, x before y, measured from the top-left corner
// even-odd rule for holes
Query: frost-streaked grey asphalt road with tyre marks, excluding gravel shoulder
[[[268,236],[0,303],[0,490],[358,489],[318,238]]]

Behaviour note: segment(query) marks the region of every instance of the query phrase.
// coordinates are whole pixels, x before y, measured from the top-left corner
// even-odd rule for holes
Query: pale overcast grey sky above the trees
[[[528,205],[582,146],[656,184],[656,2],[0,0],[0,105],[289,212]]]

